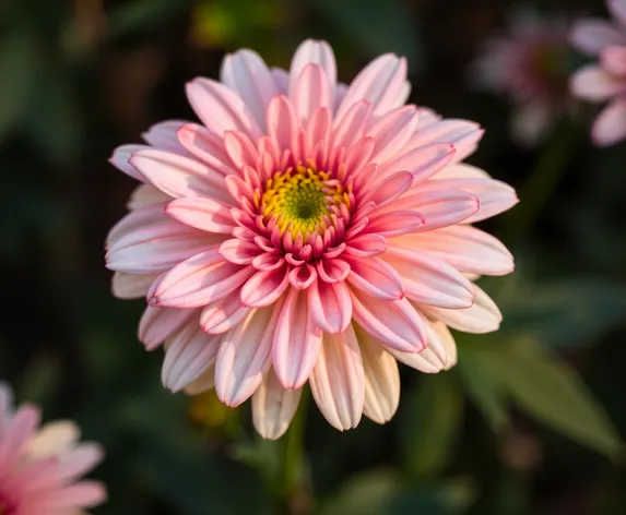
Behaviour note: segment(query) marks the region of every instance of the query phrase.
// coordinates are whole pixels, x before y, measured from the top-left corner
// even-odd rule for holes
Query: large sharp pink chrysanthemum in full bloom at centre
[[[302,388],[328,421],[354,428],[398,406],[395,360],[438,372],[456,360],[448,326],[498,327],[464,274],[512,271],[510,253],[470,226],[515,191],[460,164],[477,124],[404,106],[406,63],[336,82],[326,43],[300,45],[290,72],[240,50],[222,82],[196,79],[202,124],[153,127],[113,163],[144,182],[108,237],[114,292],[147,295],[139,337],[165,340],[163,382],[252,396],[265,438],[290,424]]]

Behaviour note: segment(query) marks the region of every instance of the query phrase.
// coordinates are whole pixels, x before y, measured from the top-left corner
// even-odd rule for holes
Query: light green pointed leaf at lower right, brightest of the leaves
[[[578,374],[529,339],[476,347],[474,358],[516,403],[572,440],[615,457],[623,444]]]

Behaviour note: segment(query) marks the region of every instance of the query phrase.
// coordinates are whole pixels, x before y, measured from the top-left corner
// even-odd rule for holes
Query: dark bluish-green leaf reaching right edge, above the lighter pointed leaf
[[[553,347],[593,343],[626,319],[626,285],[566,279],[517,295],[501,307],[501,331],[524,334]]]

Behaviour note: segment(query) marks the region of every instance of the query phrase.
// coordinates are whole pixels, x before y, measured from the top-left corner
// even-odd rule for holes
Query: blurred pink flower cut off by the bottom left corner
[[[0,515],[79,515],[101,504],[104,487],[80,481],[101,459],[101,447],[78,443],[67,421],[38,429],[39,410],[13,410],[11,390],[0,383]]]

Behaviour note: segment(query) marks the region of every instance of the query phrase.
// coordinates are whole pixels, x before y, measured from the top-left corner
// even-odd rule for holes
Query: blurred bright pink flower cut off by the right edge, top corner
[[[571,44],[599,62],[578,70],[571,77],[572,93],[586,100],[609,101],[591,130],[597,145],[606,146],[626,137],[626,0],[609,0],[615,23],[581,20],[571,31]]]

